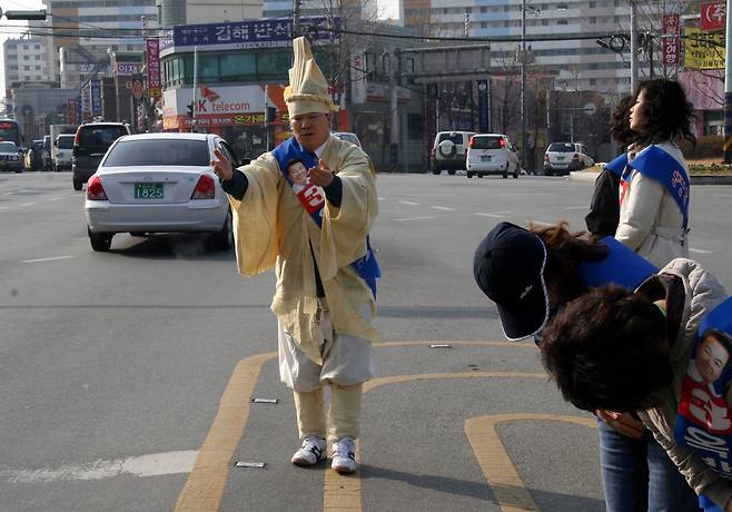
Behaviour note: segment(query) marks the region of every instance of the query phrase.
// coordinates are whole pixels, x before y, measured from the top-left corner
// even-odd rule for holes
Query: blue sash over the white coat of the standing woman
[[[637,170],[643,176],[655,179],[666,187],[671,197],[679,205],[684,219],[683,228],[686,229],[689,226],[689,194],[691,184],[683,166],[659,146],[649,146],[639,152],[633,161],[629,164],[627,169],[621,176],[621,180],[630,181],[632,170]]]

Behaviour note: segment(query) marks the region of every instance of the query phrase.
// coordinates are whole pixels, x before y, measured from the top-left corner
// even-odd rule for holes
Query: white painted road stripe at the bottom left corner
[[[152,453],[129,459],[96,461],[91,464],[69,464],[57,469],[0,471],[0,480],[8,483],[47,483],[69,480],[101,480],[122,474],[139,477],[160,476],[166,474],[190,473],[198,452]]]

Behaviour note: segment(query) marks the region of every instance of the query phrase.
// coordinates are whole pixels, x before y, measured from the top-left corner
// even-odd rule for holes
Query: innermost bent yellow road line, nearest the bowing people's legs
[[[557,421],[591,429],[597,427],[594,417],[554,414],[493,414],[466,420],[465,434],[473,446],[478,464],[481,464],[485,481],[503,512],[538,510],[536,502],[521,480],[516,466],[506,453],[496,429],[499,423],[520,421]]]

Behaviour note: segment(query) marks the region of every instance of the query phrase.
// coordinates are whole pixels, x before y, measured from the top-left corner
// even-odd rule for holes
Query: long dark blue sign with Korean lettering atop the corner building
[[[311,43],[330,42],[338,39],[338,18],[300,18],[300,33]],[[224,23],[181,24],[172,28],[172,36],[164,38],[160,51],[165,55],[176,49],[216,46],[220,49],[275,48],[291,45],[293,20],[269,19]],[[214,49],[214,48],[209,48]]]

